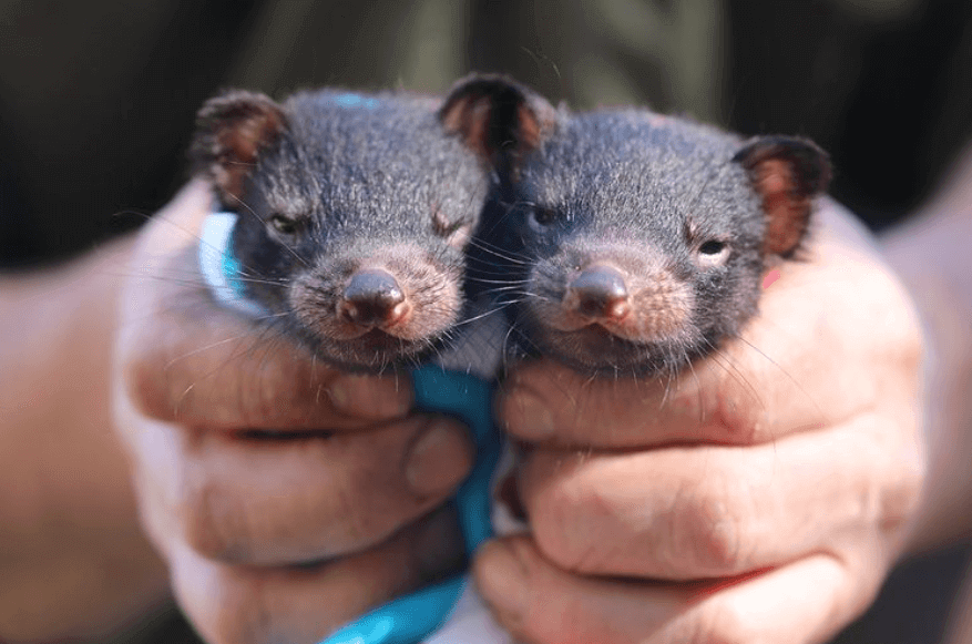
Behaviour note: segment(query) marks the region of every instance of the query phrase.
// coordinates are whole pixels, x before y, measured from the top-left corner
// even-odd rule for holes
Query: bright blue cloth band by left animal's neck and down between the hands
[[[258,315],[255,303],[243,297],[239,263],[231,241],[234,213],[212,213],[203,223],[199,268],[221,304]],[[492,385],[475,376],[427,365],[412,370],[416,409],[452,416],[472,430],[477,458],[454,503],[470,558],[493,534],[490,488],[502,440],[492,415]],[[418,644],[444,624],[465,587],[460,574],[399,597],[359,617],[320,644]]]

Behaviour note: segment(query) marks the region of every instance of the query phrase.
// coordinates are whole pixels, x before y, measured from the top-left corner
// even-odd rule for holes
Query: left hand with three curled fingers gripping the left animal
[[[454,421],[408,415],[400,377],[336,371],[218,309],[191,184],[133,253],[116,418],[143,523],[209,642],[316,642],[462,559],[433,511],[468,472]]]

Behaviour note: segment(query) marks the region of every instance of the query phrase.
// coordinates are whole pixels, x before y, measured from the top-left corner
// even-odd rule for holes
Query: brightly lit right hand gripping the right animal
[[[923,479],[921,341],[850,216],[820,221],[741,338],[671,381],[509,376],[532,534],[474,570],[513,634],[821,642],[873,599]]]

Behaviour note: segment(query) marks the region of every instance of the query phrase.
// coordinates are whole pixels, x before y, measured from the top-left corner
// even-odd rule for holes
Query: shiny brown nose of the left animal
[[[355,273],[339,304],[340,315],[364,327],[385,327],[408,313],[408,301],[393,275],[378,268]]]

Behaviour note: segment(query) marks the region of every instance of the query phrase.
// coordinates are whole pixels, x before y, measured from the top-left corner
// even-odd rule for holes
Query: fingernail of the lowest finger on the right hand
[[[503,622],[519,623],[530,601],[530,579],[520,558],[508,544],[491,541],[482,546],[477,562],[479,589]]]

